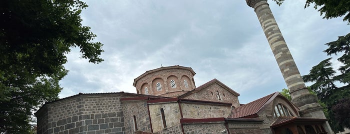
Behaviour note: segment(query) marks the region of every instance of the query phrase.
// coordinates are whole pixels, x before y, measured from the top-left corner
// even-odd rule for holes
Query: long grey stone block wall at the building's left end
[[[49,103],[47,127],[38,123],[38,133],[125,133],[120,94],[83,94]],[[45,122],[45,114],[37,113]],[[44,120],[42,118],[44,117]]]

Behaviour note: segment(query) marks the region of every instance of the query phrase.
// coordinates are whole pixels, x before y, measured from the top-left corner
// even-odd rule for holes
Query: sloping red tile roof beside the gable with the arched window
[[[278,94],[279,92],[274,92],[262,98],[256,99],[252,102],[234,108],[232,109],[232,113],[227,118],[257,117],[257,112],[271,99],[272,96],[276,96]],[[272,99],[270,101],[272,101]]]

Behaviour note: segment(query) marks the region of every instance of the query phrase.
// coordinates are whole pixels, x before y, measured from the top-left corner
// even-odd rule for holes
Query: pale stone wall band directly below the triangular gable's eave
[[[184,118],[227,117],[231,113],[229,105],[181,103],[181,109]]]

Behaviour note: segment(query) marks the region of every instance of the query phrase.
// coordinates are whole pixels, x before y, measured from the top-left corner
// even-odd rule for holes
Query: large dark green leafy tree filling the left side
[[[0,0],[0,133],[30,133],[32,111],[58,99],[65,54],[100,63],[102,43],[80,13],[80,0]]]

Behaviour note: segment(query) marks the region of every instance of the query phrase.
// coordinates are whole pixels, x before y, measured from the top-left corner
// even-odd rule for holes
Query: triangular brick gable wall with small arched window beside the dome
[[[220,94],[220,100],[216,95],[216,91]],[[217,101],[217,102],[226,102],[232,103],[234,107],[239,106],[238,96],[232,94],[227,89],[222,87],[217,83],[213,83],[207,87],[202,88],[198,92],[195,92],[191,95],[184,97],[186,99],[196,99],[196,100],[207,100],[207,101]]]

